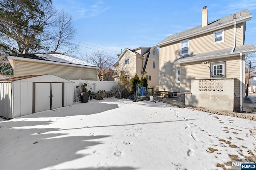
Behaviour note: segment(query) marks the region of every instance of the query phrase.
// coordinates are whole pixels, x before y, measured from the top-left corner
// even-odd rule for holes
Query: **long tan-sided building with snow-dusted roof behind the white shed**
[[[59,53],[9,55],[14,76],[54,74],[69,80],[97,80],[99,67]]]

